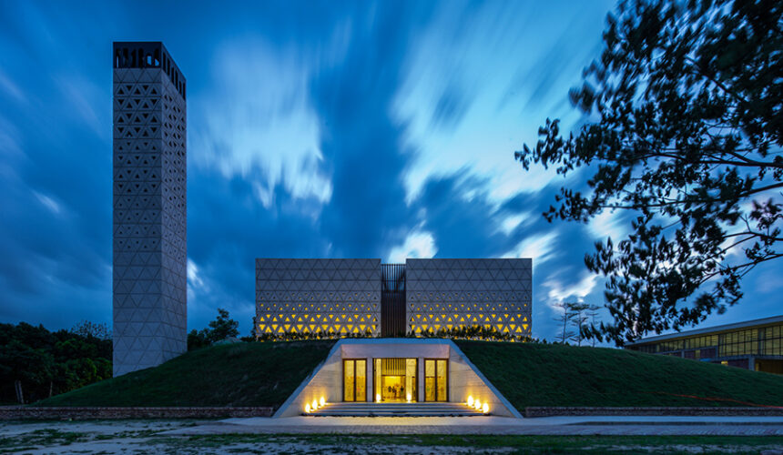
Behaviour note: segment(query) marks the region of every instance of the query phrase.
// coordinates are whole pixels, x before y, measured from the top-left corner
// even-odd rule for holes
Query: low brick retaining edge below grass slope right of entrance
[[[524,408],[524,417],[553,416],[783,416],[780,408],[597,408],[597,407],[539,407]]]

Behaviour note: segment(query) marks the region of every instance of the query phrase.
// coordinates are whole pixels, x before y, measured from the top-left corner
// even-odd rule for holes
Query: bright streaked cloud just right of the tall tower
[[[252,182],[264,207],[281,185],[295,198],[331,198],[320,151],[319,116],[308,98],[304,58],[260,39],[232,41],[214,52],[207,95],[191,98],[189,130],[200,167]]]

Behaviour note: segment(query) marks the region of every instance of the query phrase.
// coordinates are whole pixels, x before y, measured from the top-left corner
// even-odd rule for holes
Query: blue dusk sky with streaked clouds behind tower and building
[[[188,79],[188,329],[248,335],[254,258],[533,258],[533,334],[603,302],[584,265],[624,214],[542,216],[564,179],[514,150],[598,56],[614,1],[0,0],[0,321],[111,323],[113,41]],[[715,325],[780,314],[780,264]]]

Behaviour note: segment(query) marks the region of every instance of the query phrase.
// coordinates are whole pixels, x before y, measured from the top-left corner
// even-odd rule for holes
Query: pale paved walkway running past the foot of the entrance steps
[[[519,434],[783,436],[783,417],[580,416],[504,417],[290,417],[204,422],[161,434]]]

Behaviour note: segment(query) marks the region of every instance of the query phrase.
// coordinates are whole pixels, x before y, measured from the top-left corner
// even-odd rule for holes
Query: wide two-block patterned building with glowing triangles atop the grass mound
[[[256,334],[531,334],[532,259],[256,259]]]

